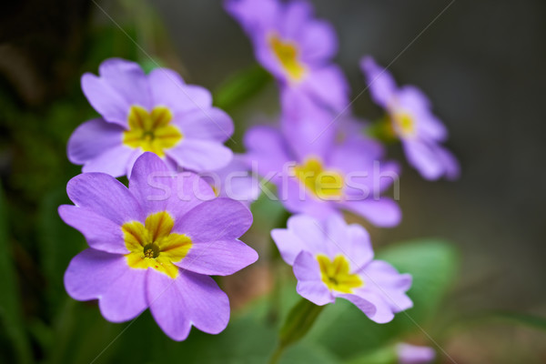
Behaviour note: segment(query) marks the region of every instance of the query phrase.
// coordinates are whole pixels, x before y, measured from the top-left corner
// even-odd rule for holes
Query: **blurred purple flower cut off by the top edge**
[[[335,31],[314,18],[308,2],[228,0],[226,9],[246,31],[258,62],[277,78],[283,94],[303,93],[335,110],[348,105],[345,76],[331,64],[338,51]]]

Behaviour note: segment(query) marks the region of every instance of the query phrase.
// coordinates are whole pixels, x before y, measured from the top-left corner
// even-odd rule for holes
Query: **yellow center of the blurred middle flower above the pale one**
[[[308,158],[302,165],[294,167],[296,177],[319,198],[340,197],[343,193],[343,177],[338,172],[326,170],[319,158]]]

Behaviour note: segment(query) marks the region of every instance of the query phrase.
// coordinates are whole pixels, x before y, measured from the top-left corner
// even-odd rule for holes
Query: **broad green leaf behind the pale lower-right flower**
[[[405,334],[427,327],[450,288],[458,267],[458,255],[450,244],[439,240],[420,240],[399,244],[380,252],[401,273],[413,276],[409,295],[414,308],[400,312],[388,324],[368,319],[345,299],[329,305],[308,337],[319,342],[341,359],[386,347]],[[419,325],[419,327],[418,327]]]

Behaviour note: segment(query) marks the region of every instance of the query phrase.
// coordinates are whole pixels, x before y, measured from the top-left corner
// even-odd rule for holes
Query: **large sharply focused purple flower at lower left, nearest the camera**
[[[76,206],[59,207],[59,215],[89,248],[66,269],[66,291],[77,300],[98,299],[112,322],[150,308],[175,340],[186,339],[192,325],[222,331],[229,302],[208,275],[232,274],[258,258],[238,240],[252,224],[250,211],[215,198],[197,175],[177,175],[152,153],[139,157],[132,172],[128,188],[104,173],[68,182]]]

